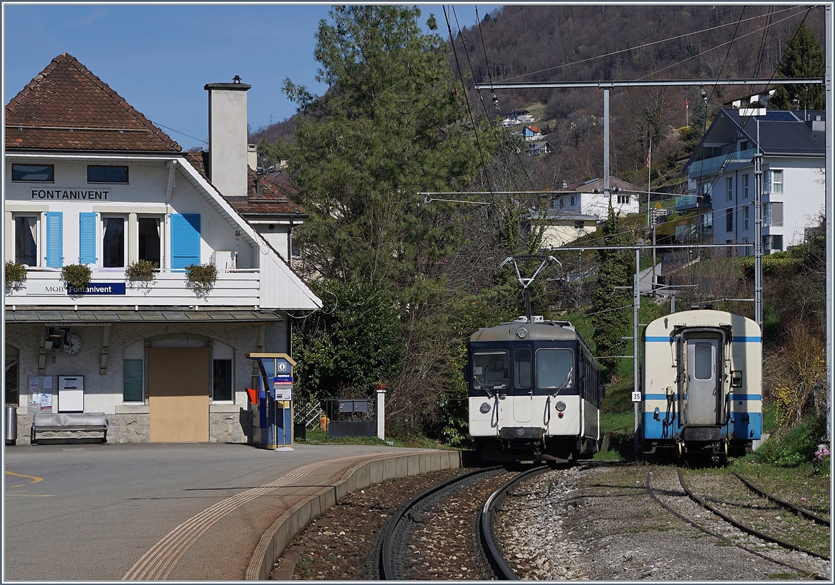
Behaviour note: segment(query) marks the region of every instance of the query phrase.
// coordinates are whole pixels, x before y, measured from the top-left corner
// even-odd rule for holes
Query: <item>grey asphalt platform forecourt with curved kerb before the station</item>
[[[267,578],[348,491],[461,465],[458,451],[294,446],[7,447],[4,580]]]

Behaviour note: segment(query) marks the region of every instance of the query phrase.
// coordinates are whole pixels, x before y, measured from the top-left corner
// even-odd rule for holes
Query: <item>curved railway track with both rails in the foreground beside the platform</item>
[[[544,469],[471,471],[413,497],[388,524],[380,578],[515,579],[490,533],[493,505],[517,481]]]

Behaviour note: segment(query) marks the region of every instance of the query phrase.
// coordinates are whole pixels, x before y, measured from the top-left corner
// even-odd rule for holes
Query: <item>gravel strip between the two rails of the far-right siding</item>
[[[749,490],[721,471],[684,473],[687,487],[722,514],[758,532],[829,556],[829,527],[816,524]]]

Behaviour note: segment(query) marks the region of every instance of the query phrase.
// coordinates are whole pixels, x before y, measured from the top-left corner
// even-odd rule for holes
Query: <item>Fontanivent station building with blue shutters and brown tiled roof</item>
[[[21,437],[34,413],[104,412],[116,442],[251,440],[245,354],[291,354],[287,311],[321,300],[230,204],[248,194],[250,87],[205,85],[205,168],[68,53],[7,104],[4,257],[27,277],[7,282],[5,399]],[[129,276],[140,260],[154,279]],[[187,279],[210,263],[213,286]],[[86,287],[63,279],[73,264]]]

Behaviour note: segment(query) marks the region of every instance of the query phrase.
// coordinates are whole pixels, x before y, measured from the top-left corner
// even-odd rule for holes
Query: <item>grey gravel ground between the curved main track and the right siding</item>
[[[650,498],[650,472],[650,486],[683,516],[803,571],[829,574],[829,562],[749,537],[693,502],[676,468],[633,464],[580,465],[519,486],[498,515],[504,532],[498,541],[517,575],[549,581],[810,578],[681,521]]]

